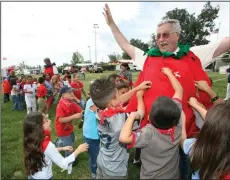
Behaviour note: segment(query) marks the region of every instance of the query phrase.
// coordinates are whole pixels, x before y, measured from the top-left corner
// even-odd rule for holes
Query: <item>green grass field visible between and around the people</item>
[[[108,76],[112,72],[104,72],[103,74],[86,74],[86,80],[84,81],[85,89],[88,91],[90,81]],[[135,80],[138,73],[133,73],[133,79]],[[209,76],[213,81],[221,78],[225,78],[225,75],[219,75],[217,73],[209,73]],[[226,79],[213,83],[214,90],[224,98],[226,93]],[[2,101],[3,102],[3,101]],[[2,103],[1,102],[1,103]],[[24,165],[23,165],[23,148],[22,148],[22,124],[26,111],[11,111],[12,103],[2,104],[2,133],[1,133],[1,179],[22,179],[26,178]],[[55,136],[55,108],[53,105],[49,114],[52,120],[52,141],[56,140]],[[82,130],[78,129],[77,124],[79,122],[74,121],[75,125],[75,145],[77,147],[82,143]],[[134,156],[134,151],[131,150],[130,157]],[[61,172],[61,169],[56,165],[53,165],[54,179],[89,179],[90,173],[88,168],[88,154],[81,154],[77,159],[76,166],[73,167],[71,175],[67,174],[67,171]],[[139,179],[139,169],[129,164],[129,179]]]

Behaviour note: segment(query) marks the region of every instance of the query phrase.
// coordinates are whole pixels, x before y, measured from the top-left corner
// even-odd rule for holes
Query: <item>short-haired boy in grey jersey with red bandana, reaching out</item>
[[[126,178],[129,153],[125,145],[119,142],[119,135],[126,120],[121,106],[136,91],[147,89],[150,81],[144,81],[128,93],[119,96],[115,83],[108,78],[95,80],[90,85],[90,96],[100,109],[97,113],[100,150],[97,157],[97,179]]]

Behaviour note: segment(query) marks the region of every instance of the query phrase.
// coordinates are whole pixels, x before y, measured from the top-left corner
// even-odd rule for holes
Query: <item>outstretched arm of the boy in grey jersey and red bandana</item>
[[[129,92],[121,95],[120,98],[120,102],[121,103],[126,103],[132,95],[134,95],[137,91],[139,90],[145,90],[148,88],[151,88],[152,82],[151,81],[144,81],[142,82],[139,86],[133,88],[132,90],[130,90]]]

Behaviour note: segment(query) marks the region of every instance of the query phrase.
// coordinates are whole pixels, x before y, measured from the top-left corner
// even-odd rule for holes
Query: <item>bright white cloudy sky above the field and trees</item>
[[[26,64],[43,65],[49,57],[57,65],[70,63],[73,52],[79,51],[84,60],[95,62],[96,29],[97,62],[107,62],[108,54],[121,53],[110,28],[105,22],[105,2],[2,2],[1,3],[2,67]],[[205,2],[108,2],[113,18],[125,37],[150,40],[157,24],[167,11],[185,8],[198,15]],[[230,2],[219,5],[215,21],[220,31],[218,39],[230,36]],[[208,39],[217,40],[217,34]],[[90,47],[90,48],[89,48]],[[4,57],[7,60],[2,60]]]

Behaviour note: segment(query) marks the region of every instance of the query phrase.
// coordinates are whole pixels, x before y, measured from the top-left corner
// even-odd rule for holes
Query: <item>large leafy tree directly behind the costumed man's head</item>
[[[218,17],[219,6],[212,7],[210,2],[204,5],[201,13],[195,17],[195,14],[189,14],[186,9],[175,8],[168,11],[162,19],[177,19],[181,25],[180,44],[190,44],[191,46],[208,44],[207,36],[214,30],[214,20]],[[154,36],[151,36],[151,41]]]

